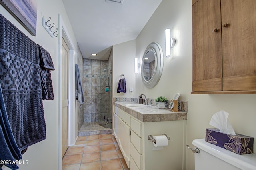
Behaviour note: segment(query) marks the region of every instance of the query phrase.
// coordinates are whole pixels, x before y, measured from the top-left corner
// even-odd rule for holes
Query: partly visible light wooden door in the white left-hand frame
[[[69,48],[62,38],[62,157],[68,149],[68,56]]]

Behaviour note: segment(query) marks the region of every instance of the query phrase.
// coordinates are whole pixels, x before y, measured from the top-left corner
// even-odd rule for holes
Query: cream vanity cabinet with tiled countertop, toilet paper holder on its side
[[[158,114],[125,107],[122,102],[114,104],[113,133],[128,167],[130,170],[184,170],[186,112],[166,114],[168,110],[157,107],[151,110]],[[168,146],[154,150],[148,135],[164,133],[171,138]]]

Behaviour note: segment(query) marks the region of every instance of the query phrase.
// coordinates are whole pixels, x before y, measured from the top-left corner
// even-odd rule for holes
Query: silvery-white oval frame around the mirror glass
[[[144,76],[143,67],[144,67],[144,58],[149,51],[152,51],[155,54],[156,65],[155,65],[152,78],[147,81]],[[162,47],[158,42],[152,42],[147,46],[143,54],[142,64],[141,64],[141,78],[142,78],[142,82],[145,84],[147,88],[153,88],[154,86],[156,86],[156,84],[158,83],[162,75],[163,68],[164,68],[164,56],[163,56]]]

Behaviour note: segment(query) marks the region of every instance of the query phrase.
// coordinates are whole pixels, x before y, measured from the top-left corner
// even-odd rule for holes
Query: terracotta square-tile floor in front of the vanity
[[[62,159],[62,170],[130,170],[112,134],[78,136]]]

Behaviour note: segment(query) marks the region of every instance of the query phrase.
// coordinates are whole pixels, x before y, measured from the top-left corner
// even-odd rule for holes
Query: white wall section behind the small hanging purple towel
[[[113,46],[113,96],[132,98],[135,95],[135,40]],[[119,77],[124,74],[126,93],[117,93]],[[133,88],[131,94],[129,89]]]

